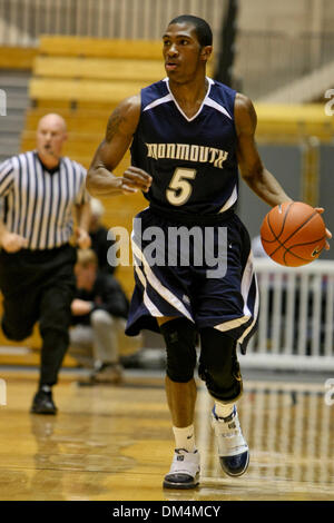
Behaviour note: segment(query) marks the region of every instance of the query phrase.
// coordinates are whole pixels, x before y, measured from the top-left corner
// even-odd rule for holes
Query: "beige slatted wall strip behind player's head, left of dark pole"
[[[40,34],[160,39],[190,13],[220,29],[225,0],[0,0],[0,46],[36,46]]]

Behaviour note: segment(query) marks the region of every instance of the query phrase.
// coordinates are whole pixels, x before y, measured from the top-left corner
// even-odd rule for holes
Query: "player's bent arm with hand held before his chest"
[[[86,187],[92,196],[147,191],[151,177],[143,169],[128,167],[124,175],[114,170],[128,150],[140,117],[140,96],[127,98],[111,114],[106,136],[88,169]]]

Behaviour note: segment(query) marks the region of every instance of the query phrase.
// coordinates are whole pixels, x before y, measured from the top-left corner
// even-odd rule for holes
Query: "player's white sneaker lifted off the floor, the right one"
[[[223,471],[229,476],[240,476],[248,468],[249,450],[242,433],[236,406],[228,417],[218,417],[214,407],[212,425]]]

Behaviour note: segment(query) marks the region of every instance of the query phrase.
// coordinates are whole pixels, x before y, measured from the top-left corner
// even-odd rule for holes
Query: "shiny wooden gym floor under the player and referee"
[[[239,478],[219,468],[212,402],[199,383],[200,486],[166,491],[174,447],[161,372],[128,369],[121,386],[96,387],[61,373],[57,416],[29,414],[37,371],[0,368],[0,377],[1,501],[334,500],[334,405],[321,379],[245,379],[238,411],[250,464]]]

